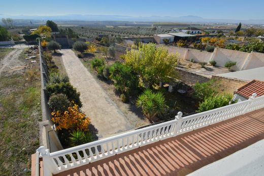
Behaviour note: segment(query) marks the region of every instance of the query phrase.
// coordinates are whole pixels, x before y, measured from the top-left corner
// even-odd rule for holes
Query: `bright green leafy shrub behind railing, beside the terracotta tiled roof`
[[[224,107],[230,103],[235,103],[233,101],[233,96],[230,94],[223,94],[223,95],[214,95],[207,97],[204,102],[200,103],[199,109],[197,112],[205,112],[209,110],[213,110],[216,108]]]

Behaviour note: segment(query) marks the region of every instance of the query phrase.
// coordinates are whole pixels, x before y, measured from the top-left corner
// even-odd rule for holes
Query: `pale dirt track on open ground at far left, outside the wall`
[[[4,59],[0,60],[0,76],[5,71],[24,65],[19,59],[17,59],[22,51],[22,49],[14,49],[8,53]]]

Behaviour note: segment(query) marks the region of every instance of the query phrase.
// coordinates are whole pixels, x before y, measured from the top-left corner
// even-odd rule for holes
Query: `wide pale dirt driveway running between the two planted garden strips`
[[[82,111],[91,118],[98,137],[106,137],[134,128],[87,68],[70,49],[61,50],[70,82],[81,92]]]

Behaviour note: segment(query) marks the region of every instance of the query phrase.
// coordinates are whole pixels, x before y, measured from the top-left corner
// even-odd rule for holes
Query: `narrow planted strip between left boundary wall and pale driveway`
[[[82,107],[80,92],[71,85],[60,53],[56,52],[60,46],[54,41],[47,44],[44,41],[41,42],[46,50],[43,57],[49,68],[49,81],[46,85],[48,105],[60,142],[63,148],[92,142],[96,139],[96,131],[89,130],[90,118],[80,109]]]

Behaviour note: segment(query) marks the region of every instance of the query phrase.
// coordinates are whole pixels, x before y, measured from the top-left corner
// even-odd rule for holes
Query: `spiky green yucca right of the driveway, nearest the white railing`
[[[150,89],[146,89],[138,96],[136,104],[138,108],[142,108],[143,114],[150,121],[167,107],[164,95],[161,92],[154,93]]]

